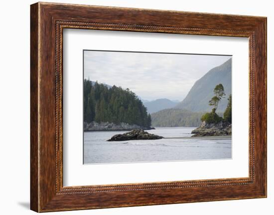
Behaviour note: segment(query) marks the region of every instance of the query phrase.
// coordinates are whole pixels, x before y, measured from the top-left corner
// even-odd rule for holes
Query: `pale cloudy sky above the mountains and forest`
[[[84,51],[84,78],[129,88],[145,100],[182,101],[195,81],[231,56]]]

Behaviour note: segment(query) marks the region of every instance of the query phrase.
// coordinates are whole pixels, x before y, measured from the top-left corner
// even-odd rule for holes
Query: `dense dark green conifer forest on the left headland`
[[[130,89],[84,80],[84,122],[151,126],[141,100]]]

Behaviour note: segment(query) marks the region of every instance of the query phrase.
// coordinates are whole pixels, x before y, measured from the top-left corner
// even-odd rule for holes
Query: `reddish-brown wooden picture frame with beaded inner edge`
[[[35,3],[30,13],[30,208],[36,212],[267,196],[267,18],[137,8]],[[64,28],[249,38],[249,177],[63,187]]]

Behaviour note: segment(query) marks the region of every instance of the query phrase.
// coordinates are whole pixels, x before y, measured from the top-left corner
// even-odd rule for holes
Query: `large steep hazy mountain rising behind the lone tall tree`
[[[185,99],[175,108],[193,112],[210,111],[212,106],[209,106],[208,102],[214,95],[213,89],[221,83],[224,86],[226,97],[220,101],[217,111],[224,112],[227,107],[228,96],[231,94],[231,66],[232,59],[230,58],[222,65],[211,69],[195,82]]]

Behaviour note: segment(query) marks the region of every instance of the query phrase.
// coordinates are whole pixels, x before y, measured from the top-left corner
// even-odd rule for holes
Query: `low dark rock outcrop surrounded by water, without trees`
[[[130,132],[124,133],[124,134],[116,134],[108,141],[127,141],[127,140],[158,140],[162,139],[163,137],[155,135],[155,134],[149,134],[148,132],[141,130],[141,129],[135,129]]]

